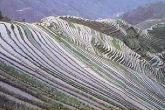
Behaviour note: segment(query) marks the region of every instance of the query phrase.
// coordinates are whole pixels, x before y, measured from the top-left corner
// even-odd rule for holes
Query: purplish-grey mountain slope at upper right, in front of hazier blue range
[[[144,22],[142,25],[145,25],[146,23],[157,23],[158,19],[165,18],[165,2],[154,2],[140,6],[137,9],[123,14],[121,18],[131,24],[138,24],[141,22]],[[160,20],[158,20],[158,22],[159,21]]]

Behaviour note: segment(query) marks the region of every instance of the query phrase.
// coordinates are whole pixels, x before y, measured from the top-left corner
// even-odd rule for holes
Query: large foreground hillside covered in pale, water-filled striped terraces
[[[0,22],[0,107],[164,109],[153,38],[115,19]]]

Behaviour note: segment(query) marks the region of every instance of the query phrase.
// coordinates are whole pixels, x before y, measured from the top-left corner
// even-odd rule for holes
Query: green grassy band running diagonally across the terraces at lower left
[[[10,74],[11,76],[16,77],[17,80],[25,82],[26,84],[28,84],[28,86],[38,89],[38,93],[39,93],[39,91],[41,92],[40,94],[36,94],[36,95],[32,94],[37,98],[42,99],[42,95],[47,94],[48,97],[51,97],[55,100],[58,100],[58,101],[61,101],[61,102],[67,103],[67,104],[71,104],[72,106],[77,106],[77,107],[82,106],[82,103],[79,102],[77,99],[72,98],[60,91],[57,91],[55,88],[51,87],[48,84],[41,82],[40,80],[38,80],[32,76],[22,74],[22,72],[18,71],[16,68],[14,68],[12,66],[6,65],[5,63],[0,63],[0,69],[6,71],[7,74]],[[64,80],[66,80],[66,79],[64,79]],[[20,86],[20,89],[22,89],[21,86]],[[27,92],[30,92],[29,90],[33,90],[33,89],[29,88]],[[44,94],[42,94],[42,93],[44,93]],[[42,99],[42,100],[46,101],[47,99],[46,100]],[[31,102],[31,103],[33,103],[33,102]],[[50,103],[50,102],[48,101],[47,103]],[[55,104],[55,102],[53,102],[53,103],[54,103],[53,104],[54,107],[63,108],[61,105]],[[82,106],[82,107],[84,107],[84,106]]]

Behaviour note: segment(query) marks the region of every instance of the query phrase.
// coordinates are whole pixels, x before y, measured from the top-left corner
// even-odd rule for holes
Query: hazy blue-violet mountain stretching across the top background
[[[12,19],[30,22],[51,15],[97,19],[115,17],[153,1],[157,0],[0,0],[0,10]]]

